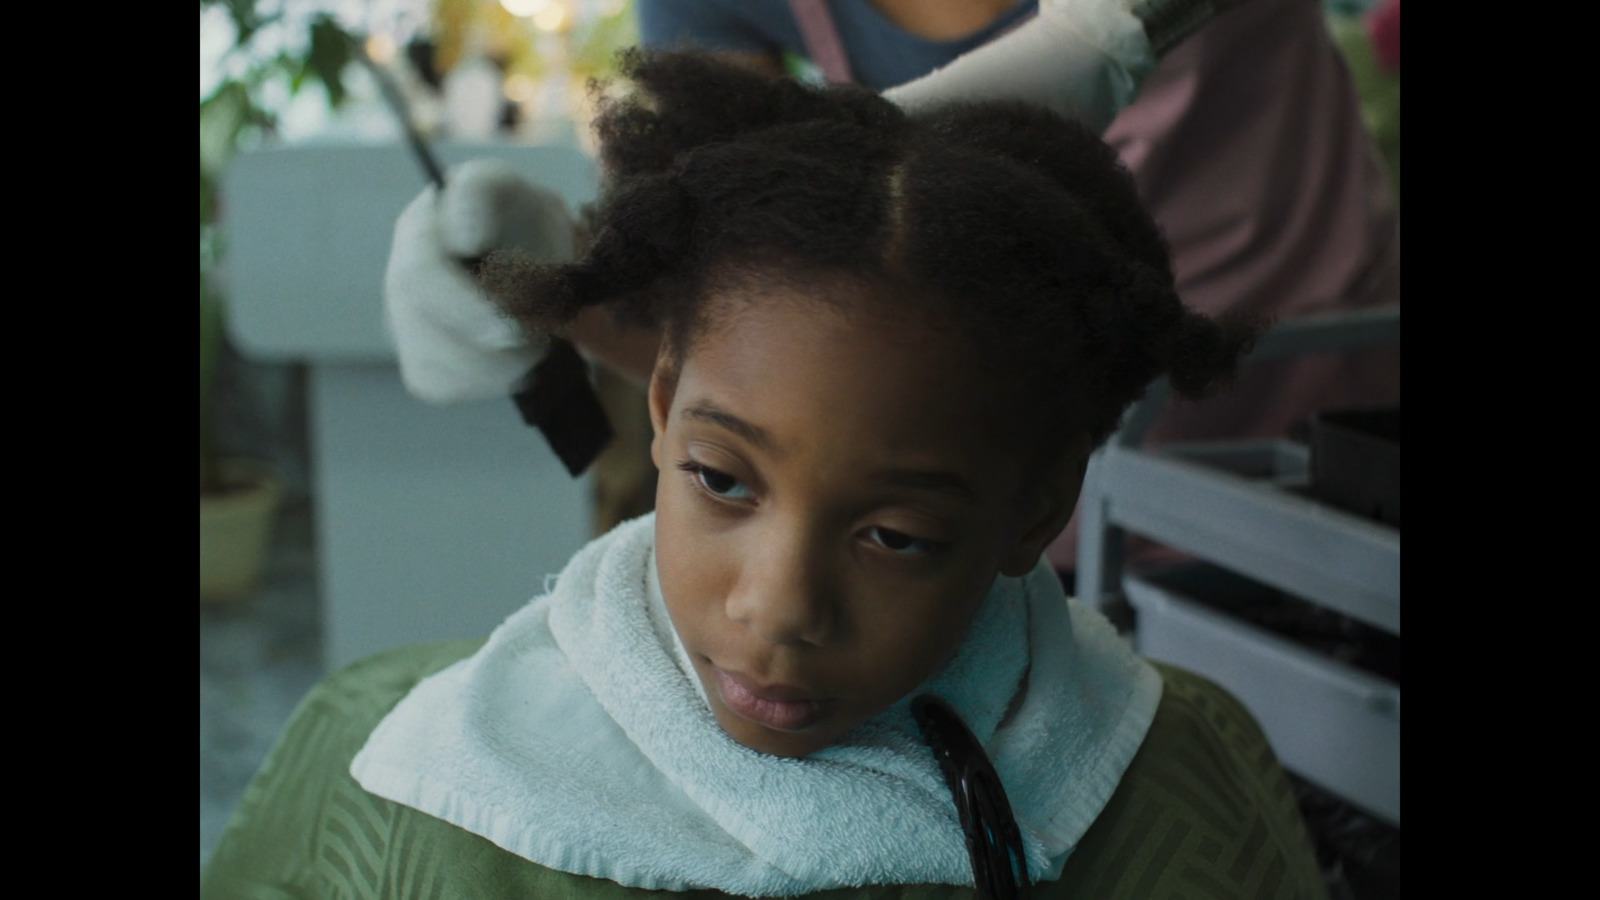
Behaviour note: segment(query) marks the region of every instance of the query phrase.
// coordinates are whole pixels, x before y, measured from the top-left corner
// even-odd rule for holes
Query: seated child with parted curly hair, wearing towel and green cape
[[[1144,386],[1202,394],[1254,333],[1184,309],[1112,151],[1022,106],[624,70],[587,253],[483,277],[530,333],[662,330],[658,511],[482,645],[320,685],[205,892],[968,895],[930,693],[1034,895],[1320,897],[1250,716],[1040,564]]]

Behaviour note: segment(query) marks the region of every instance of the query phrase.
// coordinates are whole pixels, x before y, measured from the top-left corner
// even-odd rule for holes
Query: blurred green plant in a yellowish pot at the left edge
[[[227,72],[200,99],[200,599],[235,597],[259,577],[278,503],[270,469],[219,453],[216,436],[216,372],[227,335],[226,303],[214,271],[222,255],[218,223],[222,170],[242,146],[272,133],[275,110],[264,96],[294,96],[310,82],[326,88],[330,106],[344,99],[342,72],[350,35],[326,14],[309,22],[299,48],[264,51],[256,38],[267,29],[283,38],[282,13],[262,14],[256,0],[202,0],[222,8],[234,26],[224,56]],[[286,90],[285,90],[286,88]]]

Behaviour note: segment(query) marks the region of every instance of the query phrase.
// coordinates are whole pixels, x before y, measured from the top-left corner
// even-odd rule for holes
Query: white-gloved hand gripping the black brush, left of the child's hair
[[[565,263],[573,256],[573,219],[560,197],[501,160],[458,167],[442,192],[429,187],[400,213],[384,272],[384,317],[413,396],[432,404],[506,397],[539,362],[546,343],[530,343],[466,267],[512,248]]]

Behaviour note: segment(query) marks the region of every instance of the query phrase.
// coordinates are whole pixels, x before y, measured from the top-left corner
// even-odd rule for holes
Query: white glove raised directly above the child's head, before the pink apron
[[[1021,99],[1104,131],[1133,102],[1155,53],[1136,0],[1040,0],[1011,34],[883,91],[907,112],[958,99]]]

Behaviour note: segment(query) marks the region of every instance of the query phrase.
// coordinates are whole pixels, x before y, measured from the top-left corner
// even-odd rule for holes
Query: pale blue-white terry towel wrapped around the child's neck
[[[907,701],[805,759],[733,741],[666,623],[653,548],[645,516],[579,551],[554,589],[389,713],[355,780],[534,863],[629,887],[973,884]],[[1051,879],[1144,740],[1162,682],[1042,564],[995,581],[923,690],[984,743],[1029,871]]]

